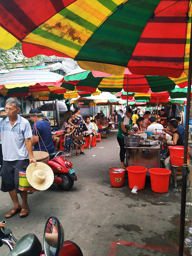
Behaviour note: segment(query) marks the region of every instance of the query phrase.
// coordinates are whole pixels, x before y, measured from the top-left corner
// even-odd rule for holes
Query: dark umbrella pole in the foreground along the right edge
[[[192,29],[191,29],[191,38],[192,38]],[[186,104],[186,117],[185,117],[184,163],[182,167],[179,256],[182,256],[184,251],[186,180],[187,180],[187,174],[188,174],[187,151],[188,151],[188,136],[189,136],[189,111],[190,111],[190,102],[191,102],[191,80],[192,80],[192,42],[190,43],[190,50],[189,50],[189,74],[188,74],[187,104]]]

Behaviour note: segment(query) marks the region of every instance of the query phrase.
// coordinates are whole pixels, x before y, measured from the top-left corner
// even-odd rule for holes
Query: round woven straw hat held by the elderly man
[[[26,177],[30,185],[37,190],[46,190],[54,181],[54,174],[49,165],[37,162],[31,163],[26,170]]]

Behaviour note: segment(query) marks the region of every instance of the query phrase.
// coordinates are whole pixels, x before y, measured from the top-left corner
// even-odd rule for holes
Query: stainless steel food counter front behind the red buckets
[[[143,166],[147,169],[160,167],[160,144],[157,146],[149,147],[128,147],[127,150],[126,166]],[[146,173],[149,176],[149,172]]]

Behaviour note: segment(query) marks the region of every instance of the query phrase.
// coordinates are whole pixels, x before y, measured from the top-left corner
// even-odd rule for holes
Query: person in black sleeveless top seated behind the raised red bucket
[[[163,140],[164,145],[168,146],[184,146],[184,141],[182,134],[177,130],[178,121],[175,119],[170,120],[169,129],[163,129],[164,132],[171,135],[172,132],[172,139],[171,140]],[[170,131],[170,132],[169,132]],[[165,168],[170,169],[170,153],[167,152],[167,158],[164,161]]]

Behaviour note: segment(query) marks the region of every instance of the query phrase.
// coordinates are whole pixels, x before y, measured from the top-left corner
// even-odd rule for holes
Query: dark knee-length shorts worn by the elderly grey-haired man
[[[16,190],[17,193],[23,192],[18,189],[19,188],[19,171],[26,171],[28,165],[29,165],[28,159],[15,160],[15,161],[3,161],[1,191],[9,192],[9,191]]]

